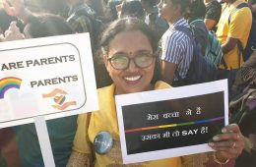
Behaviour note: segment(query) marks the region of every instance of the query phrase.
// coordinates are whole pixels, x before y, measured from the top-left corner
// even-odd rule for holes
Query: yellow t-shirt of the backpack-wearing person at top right
[[[239,4],[244,3],[244,0],[237,0],[229,6],[224,5],[222,17],[219,21],[216,35],[222,44],[225,43],[227,37],[239,39],[243,48],[246,46],[248,36],[252,25],[252,14],[249,8],[242,8],[236,11],[231,17],[228,24],[230,13]],[[242,56],[241,56],[242,57]],[[224,62],[229,70],[238,69],[238,48],[235,46],[231,51],[224,54]],[[243,64],[243,59],[240,60],[240,65]],[[221,67],[223,68],[223,67]]]

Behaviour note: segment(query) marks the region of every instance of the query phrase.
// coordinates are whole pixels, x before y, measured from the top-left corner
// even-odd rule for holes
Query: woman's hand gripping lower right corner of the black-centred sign
[[[209,145],[218,153],[221,161],[226,159],[236,158],[244,148],[244,137],[236,124],[227,125],[222,130],[223,134],[217,135],[213,138],[213,142]]]

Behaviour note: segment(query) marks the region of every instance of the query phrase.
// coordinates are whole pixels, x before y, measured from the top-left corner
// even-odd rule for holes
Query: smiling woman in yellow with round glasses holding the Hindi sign
[[[114,95],[170,87],[163,82],[153,82],[158,65],[155,55],[158,43],[153,35],[143,21],[135,18],[118,20],[103,32],[103,60],[113,83],[98,89],[98,111],[79,116],[73,152],[67,166],[122,165]],[[97,144],[92,146],[103,132],[109,132],[105,135],[114,140],[113,145],[109,142],[109,149],[101,149]],[[225,127],[223,133],[210,143],[218,150],[215,157],[220,163],[238,156],[243,148],[243,136],[236,125]],[[132,166],[179,167],[181,158],[167,158]]]

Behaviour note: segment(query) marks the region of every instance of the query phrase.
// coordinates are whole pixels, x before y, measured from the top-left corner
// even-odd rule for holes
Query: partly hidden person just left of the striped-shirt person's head
[[[160,19],[158,0],[141,0],[142,7],[146,13],[145,23],[153,28],[158,34],[158,39],[167,30],[168,24]]]

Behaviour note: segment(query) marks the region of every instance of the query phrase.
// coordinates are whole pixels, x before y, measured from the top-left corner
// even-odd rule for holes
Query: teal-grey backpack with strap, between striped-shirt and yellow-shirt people
[[[202,19],[194,20],[190,23],[192,30],[194,29],[193,23],[195,22],[205,22]],[[196,35],[196,33],[194,33]],[[197,41],[197,36],[195,36]],[[224,52],[222,48],[222,43],[217,39],[215,32],[208,30],[208,43],[206,45],[205,57],[212,62],[217,68],[222,64]]]

